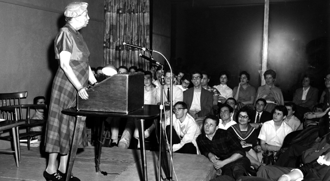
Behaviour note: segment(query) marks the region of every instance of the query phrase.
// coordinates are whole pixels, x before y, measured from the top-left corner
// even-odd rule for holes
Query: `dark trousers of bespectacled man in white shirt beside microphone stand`
[[[170,142],[170,126],[166,126],[166,135],[167,135],[167,140],[168,142]],[[172,145],[173,144],[179,144],[181,142],[179,136],[177,136],[177,133],[174,130],[174,127],[172,126]],[[197,154],[197,148],[195,147],[194,144],[192,143],[186,143],[185,145],[183,145],[182,148],[180,148],[179,150],[174,151],[176,153],[188,153],[188,154]]]

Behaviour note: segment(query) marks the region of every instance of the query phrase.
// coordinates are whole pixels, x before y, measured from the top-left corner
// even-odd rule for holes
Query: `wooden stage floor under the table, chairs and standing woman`
[[[95,172],[93,146],[79,150],[72,173],[81,180],[142,180],[140,150],[102,148],[100,170],[108,175]],[[158,180],[158,152],[148,151],[148,180]],[[46,167],[47,154],[39,147],[28,150],[21,146],[21,163],[16,167],[13,154],[0,153],[0,180],[45,180],[42,176]],[[173,153],[173,180],[210,180],[214,175],[213,164],[201,155]]]

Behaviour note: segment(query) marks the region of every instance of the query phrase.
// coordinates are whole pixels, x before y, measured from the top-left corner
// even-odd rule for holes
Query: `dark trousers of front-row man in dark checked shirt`
[[[221,168],[222,175],[212,179],[211,181],[234,181],[241,178],[245,171],[250,169],[250,161],[247,157],[242,157],[231,162]]]

